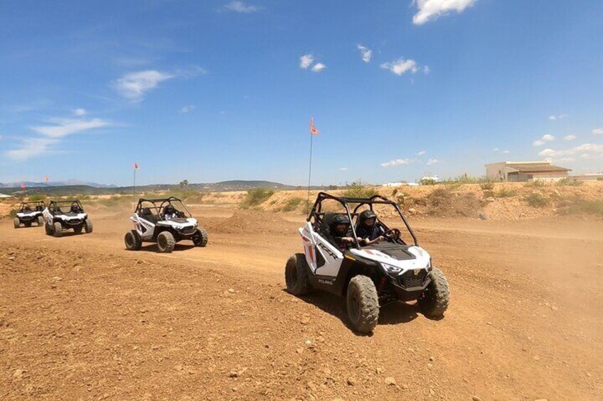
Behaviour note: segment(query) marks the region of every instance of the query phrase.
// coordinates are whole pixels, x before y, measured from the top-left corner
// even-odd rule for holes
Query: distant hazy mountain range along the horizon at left
[[[137,192],[152,192],[152,191],[167,191],[170,189],[188,189],[200,192],[230,192],[230,191],[246,191],[253,188],[270,188],[270,189],[301,189],[305,187],[285,185],[279,182],[272,181],[245,181],[232,180],[213,183],[198,183],[187,184],[184,186],[175,184],[154,184],[137,186]],[[323,189],[324,187],[311,187],[311,189]],[[5,194],[64,194],[75,195],[97,195],[97,194],[131,194],[134,190],[132,186],[117,187],[115,185],[100,185],[94,182],[80,182],[76,180],[68,180],[63,182],[25,182],[25,188],[21,189],[21,182],[11,182],[8,184],[0,183],[1,192]]]

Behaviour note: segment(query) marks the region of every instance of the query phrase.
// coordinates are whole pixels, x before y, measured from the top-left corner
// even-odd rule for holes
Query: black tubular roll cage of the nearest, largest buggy
[[[410,236],[412,236],[412,240],[415,241],[415,245],[419,245],[419,241],[417,241],[417,236],[415,236],[415,232],[412,231],[412,229],[410,228],[410,224],[408,224],[408,221],[406,221],[406,218],[404,214],[402,214],[402,211],[400,210],[400,207],[398,207],[397,203],[390,201],[390,199],[382,197],[381,195],[373,195],[370,198],[346,198],[336,197],[331,194],[327,194],[326,192],[319,192],[318,197],[316,197],[316,202],[314,202],[314,207],[312,207],[312,210],[310,211],[310,214],[306,219],[306,221],[310,222],[312,217],[314,217],[314,224],[316,225],[316,227],[321,226],[323,217],[327,213],[321,211],[322,201],[324,201],[325,199],[332,199],[336,202],[339,202],[341,206],[346,209],[346,214],[348,215],[348,220],[350,221],[350,226],[352,229],[354,244],[358,249],[360,248],[360,244],[358,243],[358,236],[356,236],[356,226],[354,226],[353,224],[352,217],[358,216],[358,209],[360,209],[363,205],[368,205],[370,210],[373,210],[373,204],[390,204],[391,206],[393,206],[396,212],[400,215],[402,221],[404,221],[406,229],[410,233]],[[348,206],[348,204],[357,204],[356,207],[353,208],[353,212],[350,212],[350,207]],[[386,232],[389,230],[388,226],[386,226],[383,221],[380,221],[380,224],[383,226],[383,229],[385,229]],[[400,241],[402,241],[402,238],[400,238]],[[404,241],[402,241],[402,243],[404,243]]]

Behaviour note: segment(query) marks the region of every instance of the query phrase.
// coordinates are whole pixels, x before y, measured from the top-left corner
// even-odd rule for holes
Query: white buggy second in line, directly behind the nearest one
[[[178,198],[139,199],[134,215],[130,217],[134,230],[124,237],[126,249],[138,251],[143,242],[157,243],[162,253],[174,251],[176,242],[193,241],[195,246],[206,246],[208,234],[198,226],[188,207]]]

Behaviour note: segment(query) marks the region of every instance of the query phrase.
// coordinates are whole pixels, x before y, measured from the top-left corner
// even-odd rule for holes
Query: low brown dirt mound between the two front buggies
[[[236,211],[232,217],[212,224],[207,229],[220,234],[267,233],[279,234],[299,228],[298,224],[265,212]]]

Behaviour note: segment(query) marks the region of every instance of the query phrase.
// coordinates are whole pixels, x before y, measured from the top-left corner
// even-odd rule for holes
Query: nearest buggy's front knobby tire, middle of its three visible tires
[[[379,297],[375,283],[365,275],[356,275],[348,284],[348,318],[360,333],[370,333],[379,320]]]

